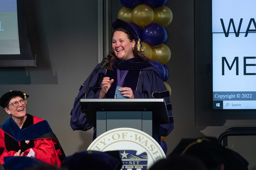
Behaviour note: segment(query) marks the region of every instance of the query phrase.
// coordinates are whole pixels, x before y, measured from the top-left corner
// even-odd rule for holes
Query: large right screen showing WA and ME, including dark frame
[[[194,0],[196,126],[255,126],[253,0]]]

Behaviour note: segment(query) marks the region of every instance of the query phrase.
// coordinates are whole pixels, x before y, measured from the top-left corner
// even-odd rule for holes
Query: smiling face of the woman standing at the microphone
[[[112,49],[120,60],[133,58],[132,48],[135,46],[135,40],[130,41],[126,33],[116,31],[113,34]]]

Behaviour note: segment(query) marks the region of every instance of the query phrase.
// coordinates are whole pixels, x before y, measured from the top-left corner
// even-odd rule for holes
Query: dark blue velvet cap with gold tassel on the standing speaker
[[[134,36],[134,39],[137,43],[137,50],[140,51],[140,48],[142,47],[142,43],[138,36],[138,33],[135,31],[133,26],[130,23],[125,22],[122,19],[116,18],[116,20],[114,20],[114,22],[112,22],[112,28],[115,30],[119,27],[125,29],[126,31],[128,31],[129,33],[131,33]]]

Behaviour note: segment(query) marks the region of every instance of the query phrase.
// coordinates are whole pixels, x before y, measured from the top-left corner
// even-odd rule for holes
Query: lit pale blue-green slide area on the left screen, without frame
[[[20,54],[16,0],[0,0],[0,55],[2,54]]]

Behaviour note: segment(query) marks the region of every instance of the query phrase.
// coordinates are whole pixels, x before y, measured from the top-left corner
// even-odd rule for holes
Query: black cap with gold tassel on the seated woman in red
[[[8,103],[10,102],[10,100],[15,97],[15,96],[20,96],[22,99],[26,100],[26,104],[27,104],[27,98],[29,97],[29,95],[27,95],[24,92],[21,91],[10,91],[5,93],[1,98],[0,98],[0,106],[1,107],[7,107]]]

